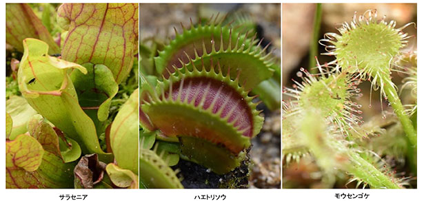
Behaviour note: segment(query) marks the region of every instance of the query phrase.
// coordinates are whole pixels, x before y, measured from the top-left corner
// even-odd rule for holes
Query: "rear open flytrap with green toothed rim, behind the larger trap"
[[[181,68],[183,64],[190,64],[190,60],[200,61],[203,55],[212,56],[223,53],[224,50],[248,50],[248,47],[256,43],[253,38],[248,38],[247,33],[234,32],[229,25],[221,25],[221,21],[216,19],[211,19],[207,25],[196,25],[196,27],[190,21],[189,29],[182,24],[181,28],[183,29],[181,33],[174,28],[175,38],[165,46],[163,51],[159,52],[159,56],[154,58],[157,72],[163,74],[165,78],[169,76],[165,69],[174,72],[173,65]],[[205,65],[208,65],[208,62]],[[235,75],[236,71],[233,70],[232,76]]]

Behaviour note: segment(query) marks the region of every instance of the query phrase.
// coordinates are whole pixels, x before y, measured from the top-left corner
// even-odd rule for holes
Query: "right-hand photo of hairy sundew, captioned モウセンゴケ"
[[[283,189],[417,188],[416,3],[283,3]]]

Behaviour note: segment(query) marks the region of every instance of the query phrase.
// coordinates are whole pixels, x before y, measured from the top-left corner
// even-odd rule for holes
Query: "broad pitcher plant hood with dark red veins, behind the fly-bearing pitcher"
[[[137,3],[65,3],[57,14],[68,30],[62,59],[105,65],[118,84],[128,76],[138,51]]]

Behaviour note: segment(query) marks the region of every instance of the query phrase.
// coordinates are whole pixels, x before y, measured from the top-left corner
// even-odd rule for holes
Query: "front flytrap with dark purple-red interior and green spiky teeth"
[[[181,143],[185,159],[223,174],[239,167],[263,118],[239,78],[232,81],[230,70],[217,69],[190,71],[183,65],[150,90],[141,109],[164,136]]]

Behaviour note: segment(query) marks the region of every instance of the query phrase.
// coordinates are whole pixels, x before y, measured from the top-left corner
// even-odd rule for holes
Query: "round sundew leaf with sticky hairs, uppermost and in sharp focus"
[[[385,16],[378,20],[376,10],[367,10],[359,17],[355,12],[353,21],[337,28],[340,34],[327,33],[319,43],[325,46],[325,55],[336,56],[333,62],[344,71],[359,72],[364,80],[370,77],[378,80],[390,74],[394,56],[411,37],[402,32],[410,24],[395,28],[396,22],[387,23]],[[383,85],[381,81],[372,83]]]

